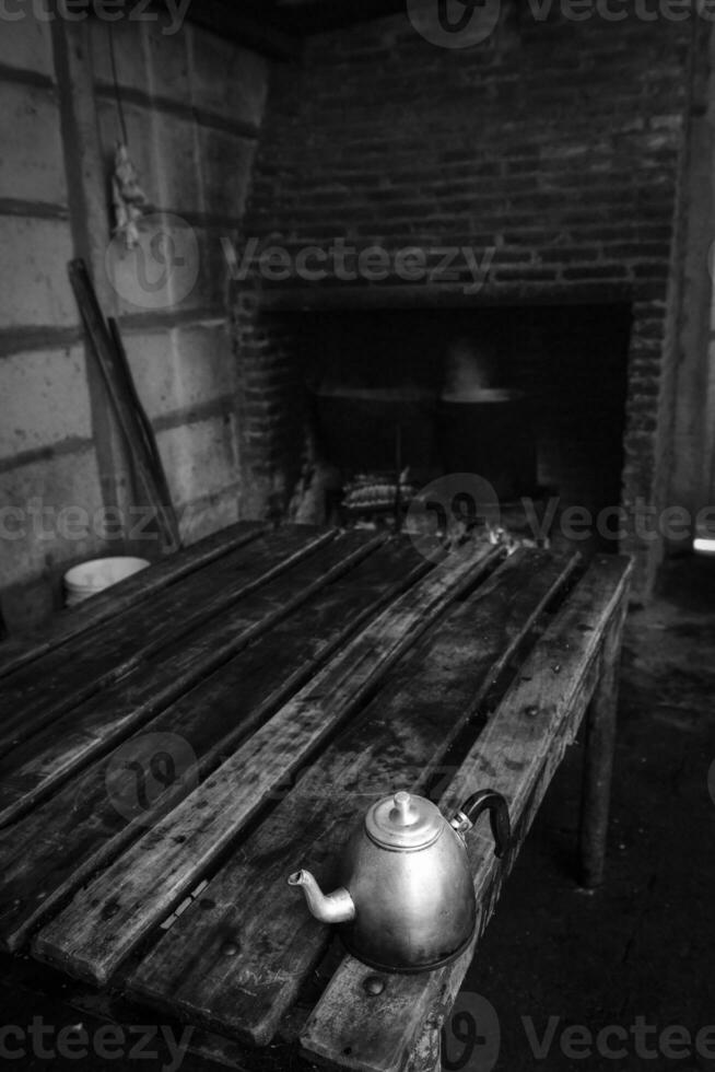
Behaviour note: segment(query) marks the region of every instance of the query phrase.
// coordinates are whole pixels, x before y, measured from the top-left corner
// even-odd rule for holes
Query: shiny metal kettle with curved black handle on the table
[[[511,840],[506,801],[493,790],[470,796],[452,820],[422,796],[396,793],[377,801],[348,841],[340,861],[342,886],[324,894],[309,871],[301,886],[324,923],[341,924],[348,949],[383,971],[427,971],[466,948],[477,904],[465,835],[490,813],[495,854]]]

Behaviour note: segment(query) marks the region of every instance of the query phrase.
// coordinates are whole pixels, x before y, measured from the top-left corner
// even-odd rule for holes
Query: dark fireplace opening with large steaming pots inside
[[[330,474],[328,510],[358,488],[358,504],[389,515],[396,499],[455,471],[490,480],[502,502],[554,497],[594,517],[620,503],[630,304],[331,308],[286,321]]]

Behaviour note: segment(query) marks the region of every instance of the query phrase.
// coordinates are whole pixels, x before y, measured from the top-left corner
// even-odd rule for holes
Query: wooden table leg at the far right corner
[[[586,761],[581,813],[581,882],[594,889],[603,881],[611,800],[616,714],[623,622],[617,611],[603,640],[601,673],[586,716]]]

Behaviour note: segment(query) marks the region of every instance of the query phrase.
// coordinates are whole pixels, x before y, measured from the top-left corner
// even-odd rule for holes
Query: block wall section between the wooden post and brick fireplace
[[[171,307],[148,311],[143,302],[117,299],[181,534],[192,540],[241,512],[235,362],[221,242],[235,242],[241,228],[268,63],[195,26],[167,37],[149,23],[116,23],[113,38],[128,142],[148,211],[185,221],[198,248],[195,286]],[[120,126],[105,24],[93,25],[92,43],[109,170]]]

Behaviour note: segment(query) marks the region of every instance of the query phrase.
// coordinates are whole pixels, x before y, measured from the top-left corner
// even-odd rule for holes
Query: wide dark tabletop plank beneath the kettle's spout
[[[397,789],[419,792],[441,770],[576,561],[518,551],[415,644],[389,687],[174,923],[128,990],[226,1037],[268,1045],[331,937],[286,875],[306,866],[330,888],[340,847],[370,801]],[[230,957],[222,954],[228,935],[237,948]]]

